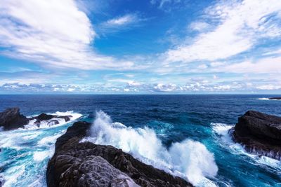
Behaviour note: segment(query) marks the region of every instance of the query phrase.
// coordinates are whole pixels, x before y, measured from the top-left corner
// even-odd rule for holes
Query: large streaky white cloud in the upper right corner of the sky
[[[166,62],[219,60],[251,49],[259,39],[281,36],[278,24],[281,11],[279,0],[245,0],[229,4],[221,1],[207,8],[206,17],[218,26],[202,32],[190,44],[183,43],[164,53]]]

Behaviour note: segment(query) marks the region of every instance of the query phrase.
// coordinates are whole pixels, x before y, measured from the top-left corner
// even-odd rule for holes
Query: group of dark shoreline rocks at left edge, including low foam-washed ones
[[[37,125],[37,127],[40,127],[41,121],[45,120],[47,121],[47,124],[51,126],[59,124],[57,119],[64,119],[65,122],[67,122],[70,118],[72,118],[72,116],[55,116],[46,113],[41,113],[39,116],[27,118],[26,116],[20,114],[19,108],[15,107],[0,112],[0,128],[3,130],[14,130],[24,127],[30,122],[30,120],[35,120],[33,124]]]

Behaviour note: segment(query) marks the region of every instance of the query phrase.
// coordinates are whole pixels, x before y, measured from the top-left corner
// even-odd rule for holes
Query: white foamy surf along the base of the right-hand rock
[[[211,126],[214,132],[221,138],[221,140],[223,140],[220,141],[221,146],[230,149],[231,152],[235,154],[247,155],[249,156],[249,158],[261,165],[268,165],[274,168],[281,167],[281,162],[279,160],[275,160],[264,155],[255,155],[248,153],[247,151],[245,151],[244,147],[241,144],[235,143],[228,133],[228,131],[232,127],[234,127],[234,125],[227,125],[224,123],[211,123]]]

